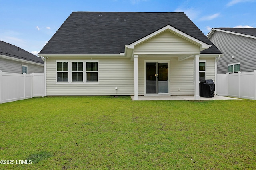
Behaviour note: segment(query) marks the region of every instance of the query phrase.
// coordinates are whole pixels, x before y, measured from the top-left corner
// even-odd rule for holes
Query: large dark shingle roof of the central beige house
[[[212,44],[183,12],[72,12],[39,54],[119,54],[166,25]],[[212,45],[201,53],[221,52]]]

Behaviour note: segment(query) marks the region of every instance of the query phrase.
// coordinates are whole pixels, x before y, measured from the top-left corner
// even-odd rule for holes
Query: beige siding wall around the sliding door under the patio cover
[[[145,94],[145,60],[170,60],[170,94],[194,95],[194,58],[178,61],[178,57],[139,57],[138,94]],[[206,61],[206,78],[215,82],[215,57],[201,58]],[[178,90],[180,88],[180,90]]]

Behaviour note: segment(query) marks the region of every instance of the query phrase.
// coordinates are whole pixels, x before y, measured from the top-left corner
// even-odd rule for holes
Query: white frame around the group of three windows
[[[68,82],[58,82],[57,81],[57,63],[58,62],[68,62]],[[72,82],[72,62],[82,62],[83,63],[83,81],[80,82]],[[98,78],[97,82],[87,82],[86,77],[86,62],[96,62],[98,64]],[[56,84],[99,84],[99,61],[98,60],[56,60],[55,62],[55,68],[56,68]]]

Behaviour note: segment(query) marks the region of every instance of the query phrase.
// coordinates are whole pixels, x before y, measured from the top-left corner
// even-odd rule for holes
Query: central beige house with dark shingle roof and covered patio
[[[194,95],[222,53],[183,12],[72,12],[38,54],[46,95]]]

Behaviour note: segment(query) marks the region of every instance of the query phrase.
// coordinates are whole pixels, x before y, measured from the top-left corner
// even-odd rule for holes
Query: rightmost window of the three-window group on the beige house
[[[98,82],[98,62],[86,62],[86,81]]]

